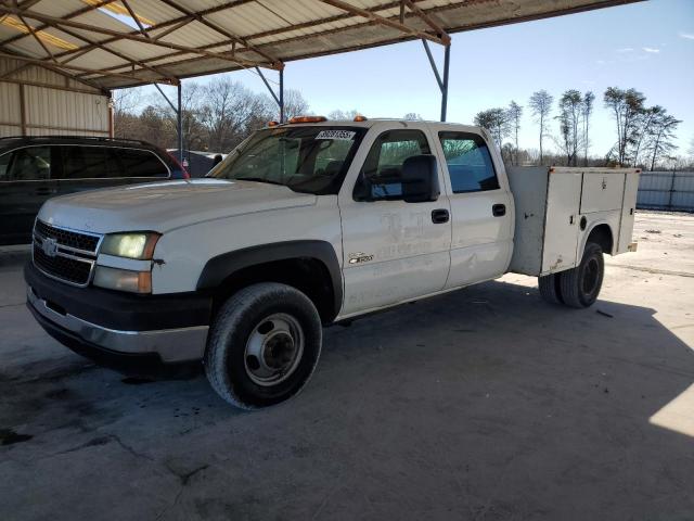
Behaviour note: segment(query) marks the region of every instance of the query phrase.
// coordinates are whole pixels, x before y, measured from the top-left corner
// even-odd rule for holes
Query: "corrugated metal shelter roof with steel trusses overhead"
[[[0,55],[104,89],[176,82],[640,0],[28,0],[0,4]],[[24,5],[24,7],[22,7]]]

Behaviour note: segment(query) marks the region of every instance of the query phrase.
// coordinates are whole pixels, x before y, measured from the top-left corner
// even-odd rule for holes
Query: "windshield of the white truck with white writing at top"
[[[207,177],[283,185],[297,192],[337,193],[364,132],[364,128],[332,126],[264,129]]]

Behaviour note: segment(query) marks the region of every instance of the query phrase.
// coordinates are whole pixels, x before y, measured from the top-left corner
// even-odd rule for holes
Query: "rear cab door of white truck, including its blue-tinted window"
[[[499,277],[513,252],[513,200],[506,179],[497,175],[492,151],[481,136],[439,130],[437,138],[446,160],[452,221],[446,288]]]

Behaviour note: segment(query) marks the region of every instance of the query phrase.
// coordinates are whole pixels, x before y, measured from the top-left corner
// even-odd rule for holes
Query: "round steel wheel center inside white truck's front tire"
[[[292,316],[278,313],[260,320],[246,342],[246,373],[258,385],[277,385],[296,370],[304,354],[304,332]]]

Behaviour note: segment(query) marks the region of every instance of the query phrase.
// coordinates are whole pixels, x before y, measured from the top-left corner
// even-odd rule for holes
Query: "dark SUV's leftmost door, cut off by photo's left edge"
[[[57,193],[50,147],[25,147],[0,156],[0,244],[31,240],[34,219]]]

